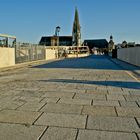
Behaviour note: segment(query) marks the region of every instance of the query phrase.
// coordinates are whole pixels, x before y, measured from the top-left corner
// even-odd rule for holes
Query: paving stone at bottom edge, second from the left
[[[49,127],[41,140],[75,140],[76,129]]]

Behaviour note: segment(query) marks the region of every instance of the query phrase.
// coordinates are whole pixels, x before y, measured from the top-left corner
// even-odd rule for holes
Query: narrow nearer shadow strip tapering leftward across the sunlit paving
[[[40,80],[40,82],[92,84],[92,85],[113,86],[113,87],[120,87],[120,88],[140,89],[140,83],[130,82],[130,81],[87,81],[87,80],[73,80],[73,79],[50,79],[50,80]]]

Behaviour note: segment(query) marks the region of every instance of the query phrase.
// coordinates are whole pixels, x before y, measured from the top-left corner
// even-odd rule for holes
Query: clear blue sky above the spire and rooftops
[[[41,36],[71,35],[77,6],[82,39],[140,43],[140,0],[0,0],[0,33],[38,43]]]

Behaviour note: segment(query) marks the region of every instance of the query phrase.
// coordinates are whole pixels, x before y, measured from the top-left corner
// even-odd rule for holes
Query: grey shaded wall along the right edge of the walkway
[[[140,47],[118,49],[117,55],[122,61],[140,66]]]

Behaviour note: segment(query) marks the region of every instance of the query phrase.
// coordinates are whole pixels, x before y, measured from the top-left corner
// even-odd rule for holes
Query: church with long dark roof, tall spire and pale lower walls
[[[64,52],[70,55],[74,54],[77,57],[79,54],[89,54],[89,48],[81,45],[81,26],[77,8],[75,9],[71,36],[59,36],[59,34],[57,34],[55,31],[54,36],[41,37],[39,45],[48,46],[51,47],[51,49],[55,49],[58,57]]]

